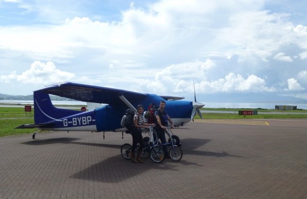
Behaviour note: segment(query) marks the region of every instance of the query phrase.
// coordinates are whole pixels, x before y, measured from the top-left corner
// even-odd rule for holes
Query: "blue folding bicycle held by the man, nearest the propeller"
[[[176,145],[177,140],[173,138],[174,134],[171,132],[171,127],[165,127],[164,132],[168,135],[168,142],[164,144],[160,144],[163,146],[170,146],[168,149],[168,155],[172,161],[178,162],[182,158],[182,149]]]

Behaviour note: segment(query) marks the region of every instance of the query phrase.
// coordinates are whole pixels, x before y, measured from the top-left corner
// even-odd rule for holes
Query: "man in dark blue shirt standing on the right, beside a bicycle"
[[[174,128],[174,123],[165,111],[165,104],[165,101],[161,101],[159,109],[155,111],[156,132],[158,136],[157,139],[160,139],[162,144],[166,143],[164,129],[168,126],[168,122],[171,124],[171,127]],[[165,152],[165,156],[168,157],[167,147],[163,146],[163,150]]]

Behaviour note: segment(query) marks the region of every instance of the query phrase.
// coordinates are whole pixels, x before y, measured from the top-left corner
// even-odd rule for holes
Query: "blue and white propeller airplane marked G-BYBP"
[[[53,106],[49,95],[57,95],[89,104],[105,104],[93,110],[79,111]],[[17,129],[38,128],[42,131],[91,131],[91,132],[124,132],[121,126],[125,110],[142,104],[146,109],[150,103],[160,104],[166,101],[168,115],[176,126],[193,120],[196,112],[202,118],[202,103],[181,101],[184,97],[159,96],[156,94],[138,93],[114,88],[99,87],[71,82],[61,82],[33,91],[34,124],[26,124]],[[93,107],[93,106],[91,106]],[[34,132],[32,138],[35,138]]]

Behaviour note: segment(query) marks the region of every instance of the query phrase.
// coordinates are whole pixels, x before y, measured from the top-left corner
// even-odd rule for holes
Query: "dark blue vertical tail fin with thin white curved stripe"
[[[60,109],[53,106],[48,93],[34,91],[34,124],[43,124],[59,120],[65,116],[82,111]]]

